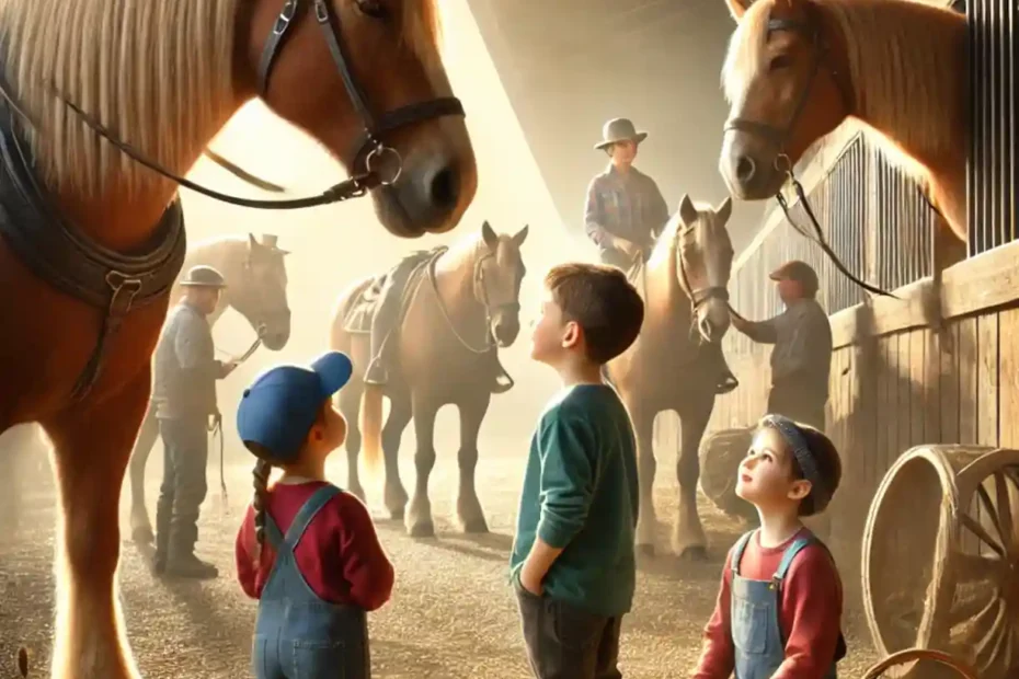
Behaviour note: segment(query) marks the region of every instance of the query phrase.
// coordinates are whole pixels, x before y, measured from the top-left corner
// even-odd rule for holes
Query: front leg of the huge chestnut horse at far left
[[[146,366],[101,403],[44,423],[60,490],[54,679],[138,676],[114,590],[118,499],[148,395]]]

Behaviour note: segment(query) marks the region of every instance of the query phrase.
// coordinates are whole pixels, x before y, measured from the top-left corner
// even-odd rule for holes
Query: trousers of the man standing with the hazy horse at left
[[[208,463],[208,418],[160,419],[163,439],[163,483],[156,505],[156,557],[165,561],[194,554],[198,509],[205,502]]]

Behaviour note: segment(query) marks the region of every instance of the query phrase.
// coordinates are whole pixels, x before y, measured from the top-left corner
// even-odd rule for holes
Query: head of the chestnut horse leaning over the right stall
[[[845,41],[817,2],[725,2],[737,25],[722,68],[731,108],[719,171],[730,193],[760,200],[849,114],[850,88],[836,76],[847,76]]]

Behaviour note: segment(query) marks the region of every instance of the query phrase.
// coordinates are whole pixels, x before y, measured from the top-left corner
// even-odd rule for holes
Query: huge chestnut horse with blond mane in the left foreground
[[[260,76],[265,74],[263,49],[273,45],[274,26],[285,23],[282,11],[295,8],[300,11],[286,24],[287,39],[275,44],[266,80]],[[317,21],[320,14],[329,21]],[[310,1],[284,0],[0,4],[0,76],[5,99],[16,102],[20,113],[11,125],[28,157],[12,170],[4,156],[0,169],[28,172],[51,208],[45,219],[39,210],[31,212],[37,221],[32,226],[11,217],[30,210],[4,210],[9,225],[31,232],[34,248],[9,238],[0,244],[0,430],[38,422],[55,447],[61,511],[54,677],[137,676],[114,587],[117,508],[170,296],[169,285],[160,291],[113,266],[103,264],[96,274],[85,254],[69,257],[65,264],[72,267],[50,268],[56,277],[78,273],[71,268],[85,271],[82,277],[93,281],[98,277],[99,294],[110,299],[111,309],[116,307],[121,321],[100,345],[101,333],[108,330],[105,303],[84,301],[88,291],[76,297],[35,273],[43,265],[35,262],[38,266],[31,268],[30,255],[51,264],[46,258],[54,248],[73,245],[133,267],[148,257],[146,266],[159,263],[171,281],[173,265],[178,271],[181,265],[176,253],[183,256],[172,204],[176,185],[129,159],[123,146],[101,138],[95,122],[180,175],[234,112],[260,96],[319,140],[348,172],[359,173],[367,163],[360,140],[370,115],[387,148],[402,160],[402,174],[388,174],[397,181],[371,191],[380,221],[402,237],[446,231],[459,221],[477,187],[462,117],[424,115],[422,110],[412,111],[417,115],[409,120],[385,115],[415,104],[434,113],[427,104],[450,95],[436,18],[434,0],[314,0],[313,8]],[[336,42],[342,60],[331,49]],[[357,85],[357,95],[345,78]],[[2,113],[13,116],[14,105],[4,103]],[[12,195],[7,179],[0,192],[4,200]],[[149,290],[145,301],[150,303],[126,303],[138,289]],[[92,370],[96,348],[102,349],[98,373]],[[84,382],[83,376],[89,376]],[[78,391],[82,383],[85,388]]]

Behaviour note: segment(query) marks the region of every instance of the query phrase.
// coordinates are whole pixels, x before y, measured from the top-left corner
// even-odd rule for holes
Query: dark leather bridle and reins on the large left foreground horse
[[[262,49],[262,58],[259,62],[260,95],[264,95],[266,92],[266,88],[268,85],[268,76],[272,70],[273,62],[278,55],[280,47],[283,46],[283,38],[286,35],[287,28],[289,28],[290,24],[294,23],[294,21],[298,18],[298,12],[301,7],[304,7],[302,2],[304,0],[287,0],[284,3],[283,10],[279,12],[279,16],[276,19],[276,23],[273,26],[273,31],[266,39],[265,47]],[[358,0],[358,7],[367,4],[368,2],[366,0]],[[351,179],[333,185],[318,196],[293,198],[287,200],[255,200],[252,198],[231,196],[229,194],[213,191],[211,188],[206,188],[201,184],[196,184],[186,177],[171,172],[158,162],[150,160],[131,145],[118,139],[92,115],[64,96],[64,94],[60,93],[53,85],[53,83],[48,83],[48,88],[53,92],[54,96],[60,100],[65,106],[73,112],[75,115],[77,115],[79,118],[81,118],[81,120],[88,125],[92,131],[112,143],[122,153],[138,164],[144,165],[152,172],[156,172],[157,174],[162,175],[163,177],[178,184],[179,186],[190,188],[191,191],[199,193],[204,196],[208,196],[214,200],[255,209],[294,210],[318,207],[321,205],[331,205],[334,203],[348,200],[350,198],[357,198],[366,195],[371,188],[392,184],[398,179],[400,179],[400,174],[403,171],[403,159],[400,157],[399,152],[397,152],[397,150],[392,147],[386,146],[381,140],[379,140],[379,136],[386,133],[390,133],[394,129],[405,127],[407,125],[420,123],[422,120],[437,118],[446,115],[463,116],[466,114],[463,113],[463,105],[460,103],[460,100],[454,96],[444,96],[426,102],[419,102],[415,104],[401,106],[382,114],[379,119],[376,120],[368,108],[363,92],[357,87],[354,74],[350,69],[346,54],[343,50],[340,18],[335,14],[335,12],[333,12],[329,0],[313,0],[313,8],[316,21],[318,22],[319,26],[321,26],[325,36],[325,41],[329,45],[329,51],[333,57],[333,61],[335,62],[337,70],[340,71],[340,76],[343,78],[343,84],[346,88],[351,103],[354,105],[354,110],[357,112],[364,124],[364,131],[355,145],[353,156],[350,157],[352,168],[355,166],[355,163],[358,159],[364,158],[364,171],[355,172]],[[371,11],[367,7],[363,11],[368,16],[373,16],[375,19],[382,18],[380,14]],[[16,113],[26,125],[35,129],[36,133],[41,130],[41,127],[35,123],[35,120],[33,120],[32,116],[30,116],[23,108],[21,108],[21,106],[18,104],[18,101],[8,92],[5,83],[2,82],[0,82],[0,96],[7,101],[11,110]],[[365,154],[365,151],[367,151],[367,154]],[[279,188],[274,184],[259,180],[254,175],[244,172],[238,165],[227,161],[218,154],[206,151],[206,156],[209,156],[209,158],[211,158],[215,162],[222,165],[250,184],[254,184],[270,191],[276,191]],[[382,168],[385,165],[382,161],[386,159],[386,157],[389,157],[393,161],[393,169],[389,171],[388,176],[387,174],[382,173]]]

